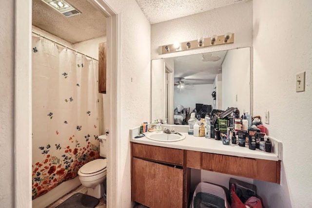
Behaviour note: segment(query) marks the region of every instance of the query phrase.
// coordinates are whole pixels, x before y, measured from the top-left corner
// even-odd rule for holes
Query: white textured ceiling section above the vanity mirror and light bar
[[[247,0],[136,0],[151,24],[181,18]]]

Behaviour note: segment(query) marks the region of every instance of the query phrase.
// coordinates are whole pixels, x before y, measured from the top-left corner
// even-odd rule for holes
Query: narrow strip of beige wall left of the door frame
[[[0,8],[0,207],[14,207],[14,1]]]

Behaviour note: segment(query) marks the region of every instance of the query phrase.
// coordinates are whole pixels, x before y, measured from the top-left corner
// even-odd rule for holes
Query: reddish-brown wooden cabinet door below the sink
[[[132,170],[132,201],[150,208],[182,208],[182,169],[133,158]]]

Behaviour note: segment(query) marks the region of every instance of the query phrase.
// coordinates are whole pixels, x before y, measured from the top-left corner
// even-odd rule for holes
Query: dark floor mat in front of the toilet
[[[99,199],[83,193],[75,193],[56,208],[95,208]]]

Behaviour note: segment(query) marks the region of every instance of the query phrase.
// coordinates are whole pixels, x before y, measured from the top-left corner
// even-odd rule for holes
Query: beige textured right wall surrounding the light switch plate
[[[270,208],[312,206],[311,11],[311,0],[254,0],[254,113],[270,111],[266,126],[283,143],[281,185],[254,181]],[[306,91],[296,93],[303,71]]]

